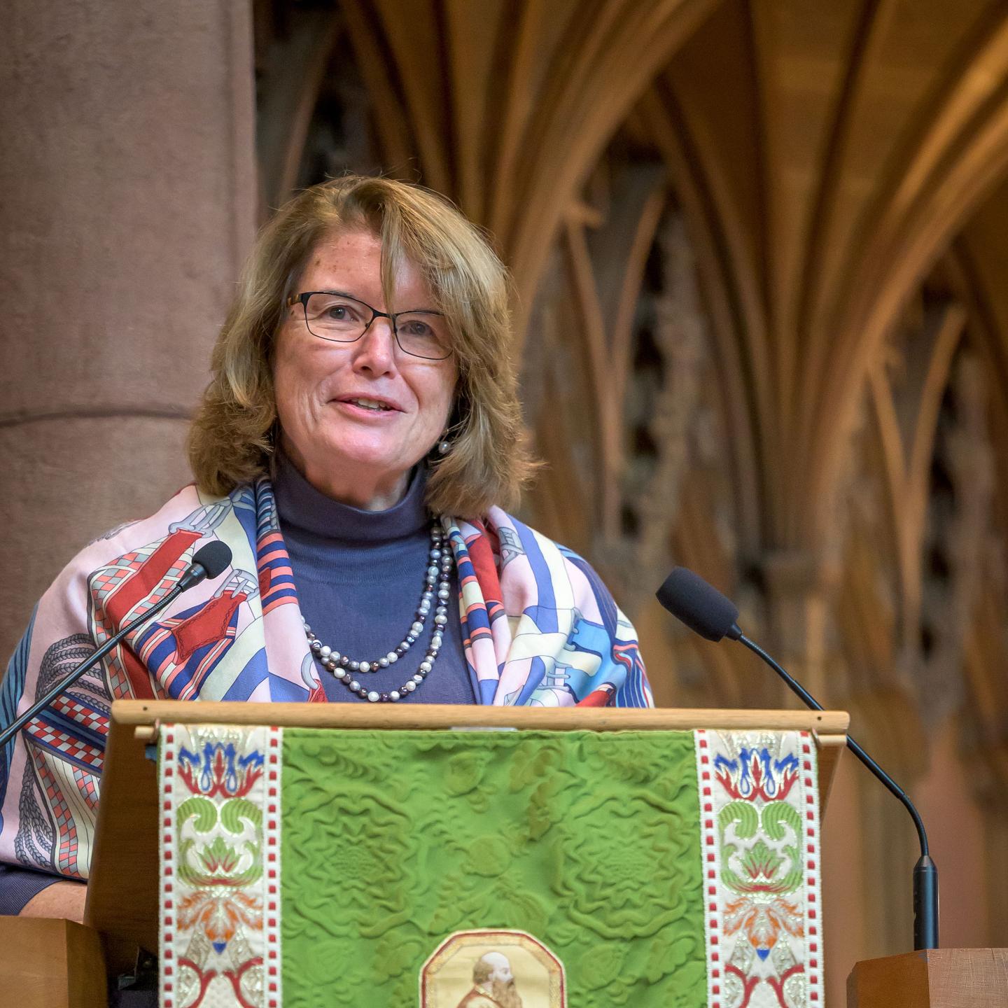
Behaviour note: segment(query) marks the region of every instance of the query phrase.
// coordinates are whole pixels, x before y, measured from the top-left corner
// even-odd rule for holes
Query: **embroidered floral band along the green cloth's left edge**
[[[280,1008],[275,728],[160,733],[163,1008]]]

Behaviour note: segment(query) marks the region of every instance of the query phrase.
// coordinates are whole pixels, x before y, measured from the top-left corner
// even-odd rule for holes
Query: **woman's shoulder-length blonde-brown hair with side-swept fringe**
[[[226,494],[269,472],[278,424],[273,355],[287,297],[319,242],[357,228],[381,241],[385,303],[393,302],[396,268],[408,259],[449,323],[459,369],[452,450],[429,462],[427,506],[463,518],[480,518],[492,504],[514,508],[534,463],[510,357],[507,271],[481,232],[442,197],[360,175],[305,190],[260,233],[190,428],[197,485]]]

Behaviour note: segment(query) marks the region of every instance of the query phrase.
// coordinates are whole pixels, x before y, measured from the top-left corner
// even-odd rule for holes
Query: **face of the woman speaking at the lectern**
[[[395,303],[385,304],[381,243],[366,230],[334,232],[319,243],[294,293],[307,290],[340,291],[380,311],[433,307],[410,262],[396,276]],[[431,361],[400,350],[388,319],[375,319],[355,343],[336,343],[312,336],[294,305],[277,334],[273,364],[284,450],[331,497],[391,507],[445,430],[457,378],[454,357]]]

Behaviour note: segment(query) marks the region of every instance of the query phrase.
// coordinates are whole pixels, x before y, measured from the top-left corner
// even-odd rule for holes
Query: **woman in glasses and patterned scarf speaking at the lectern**
[[[195,485],[62,572],[0,711],[208,539],[232,566],[4,754],[0,859],[48,874],[8,869],[0,910],[80,917],[80,882],[42,889],[87,878],[115,699],[650,706],[633,627],[592,569],[501,509],[530,470],[509,343],[505,271],[436,196],[350,176],[276,215],[214,351]]]

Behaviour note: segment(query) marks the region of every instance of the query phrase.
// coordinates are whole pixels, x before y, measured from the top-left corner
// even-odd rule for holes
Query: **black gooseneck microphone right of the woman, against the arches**
[[[658,602],[695,633],[713,641],[720,641],[725,637],[739,641],[750,651],[758,654],[804,704],[813,711],[824,710],[823,705],[800,682],[771,658],[759,644],[746,637],[736,622],[739,610],[735,604],[699,575],[685,568],[675,568],[655,594]],[[847,737],[847,748],[902,801],[913,818],[920,841],[920,858],[913,868],[913,948],[914,951],[937,949],[938,870],[928,853],[927,833],[924,831],[920,813],[914,808],[913,802],[907,797],[903,788],[850,735]]]

